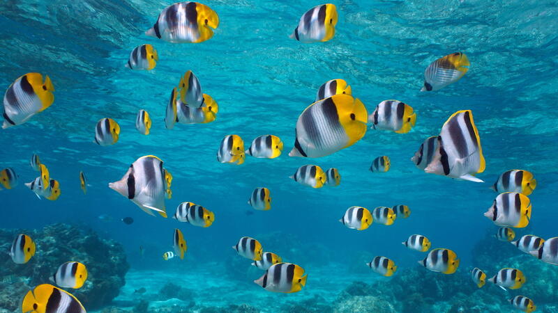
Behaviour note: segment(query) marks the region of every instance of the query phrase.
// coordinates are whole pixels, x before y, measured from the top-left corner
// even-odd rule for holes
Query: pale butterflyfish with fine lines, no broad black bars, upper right
[[[421,91],[439,90],[455,83],[467,73],[470,65],[469,58],[462,52],[455,52],[437,59],[426,67]]]

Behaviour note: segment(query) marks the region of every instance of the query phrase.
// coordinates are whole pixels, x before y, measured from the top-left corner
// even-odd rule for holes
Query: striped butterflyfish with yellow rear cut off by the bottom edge
[[[73,294],[52,284],[40,284],[23,298],[22,312],[86,313]]]

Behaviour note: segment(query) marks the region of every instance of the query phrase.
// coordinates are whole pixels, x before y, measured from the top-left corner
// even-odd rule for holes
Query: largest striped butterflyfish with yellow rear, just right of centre
[[[296,122],[289,157],[325,157],[354,145],[366,133],[368,113],[359,99],[333,95],[310,104]]]

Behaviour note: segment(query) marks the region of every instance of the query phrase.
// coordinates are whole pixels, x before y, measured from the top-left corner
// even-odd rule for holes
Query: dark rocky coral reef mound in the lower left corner
[[[31,236],[37,252],[27,264],[15,264],[9,255],[0,253],[0,308],[10,312],[18,310],[20,300],[29,289],[52,283],[50,277],[68,261],[82,262],[89,272],[82,288],[68,290],[87,310],[110,304],[125,284],[129,265],[123,247],[116,241],[101,239],[91,230],[54,224],[43,230],[0,230],[0,250],[8,251],[19,233]],[[6,278],[13,280],[3,282]]]

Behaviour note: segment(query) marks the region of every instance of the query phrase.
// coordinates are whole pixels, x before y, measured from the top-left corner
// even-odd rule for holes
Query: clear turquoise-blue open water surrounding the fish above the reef
[[[335,37],[317,44],[288,36],[299,17],[320,3],[204,3],[216,10],[220,25],[211,40],[191,45],[144,35],[167,1],[1,1],[0,88],[27,72],[48,74],[56,88],[49,109],[0,131],[0,168],[14,168],[20,177],[16,188],[0,191],[1,228],[31,230],[62,222],[91,227],[122,243],[131,269],[116,306],[130,300],[126,296],[133,289],[157,293],[160,287],[155,285],[169,280],[211,294],[197,298],[199,304],[247,303],[266,312],[315,294],[331,303],[354,280],[377,280],[363,264],[376,255],[395,260],[398,271],[425,272],[416,264],[424,255],[400,244],[411,234],[428,236],[433,248],[454,250],[461,259],[458,273],[463,273],[455,279],[472,284],[465,274],[476,266],[471,262],[474,246],[485,240],[486,232],[497,230],[483,216],[497,195],[488,187],[505,170],[529,170],[538,181],[529,196],[531,223],[518,234],[558,235],[555,1],[333,0],[339,14]],[[144,43],[156,47],[157,67],[128,70],[124,65],[130,51]],[[425,67],[455,51],[465,52],[471,61],[465,77],[437,92],[420,93]],[[218,102],[218,118],[206,125],[165,129],[168,95],[187,70]],[[354,146],[328,157],[288,157],[299,114],[322,83],[337,78],[352,86],[369,113],[385,99],[411,105],[416,127],[409,134],[369,129]],[[151,114],[149,136],[135,130],[139,109]],[[484,184],[425,174],[409,161],[425,138],[437,135],[448,116],[462,109],[473,111],[481,137],[486,170],[478,177]],[[113,118],[121,126],[115,145],[93,143],[100,118]],[[247,157],[241,166],[221,164],[216,152],[228,134],[241,136],[246,147],[259,135],[274,134],[285,150],[278,159]],[[59,200],[38,200],[23,185],[36,177],[29,167],[33,152],[59,180]],[[216,214],[211,227],[148,216],[107,187],[146,154],[163,159],[174,175],[169,216],[180,202],[195,202]],[[368,171],[372,159],[381,155],[390,157],[391,170]],[[289,179],[296,168],[311,163],[338,168],[340,186],[312,189]],[[91,184],[87,195],[80,190],[80,170]],[[258,186],[271,190],[271,211],[253,211],[246,204]],[[395,204],[407,204],[411,216],[391,226],[373,224],[363,232],[338,222],[353,205],[373,209]],[[247,215],[250,210],[254,214]],[[98,219],[102,214],[114,220]],[[121,223],[125,216],[135,223]],[[188,241],[187,257],[165,262],[161,255],[172,250],[176,227]],[[224,275],[225,263],[241,258],[231,249],[241,236],[274,237],[276,246],[261,239],[264,250],[303,266],[308,273],[305,289],[288,296],[265,291],[252,283],[263,272],[248,272],[248,260],[243,260],[246,269],[236,265],[242,264],[238,259],[234,266],[250,275]],[[556,278],[558,268],[553,269]],[[184,281],[184,275],[191,279]],[[384,280],[389,289],[389,279]],[[506,305],[502,299],[498,301]]]

